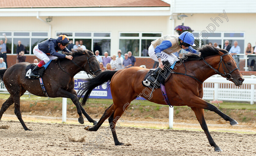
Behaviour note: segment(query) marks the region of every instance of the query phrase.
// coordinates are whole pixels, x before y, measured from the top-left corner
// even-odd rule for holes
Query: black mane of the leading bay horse
[[[189,61],[189,60],[200,60],[202,57],[206,56],[213,56],[213,55],[219,55],[219,51],[223,52],[224,54],[229,53],[228,51],[220,48],[216,48],[213,45],[203,45],[201,48],[197,49],[198,52],[201,52],[200,55],[189,53],[189,54],[184,54],[182,59],[184,61]]]

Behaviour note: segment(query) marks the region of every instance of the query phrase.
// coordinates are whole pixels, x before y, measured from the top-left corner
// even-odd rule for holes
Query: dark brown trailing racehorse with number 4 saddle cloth
[[[82,70],[92,76],[97,76],[101,73],[99,62],[92,51],[76,49],[76,51],[72,52],[72,61],[69,59],[52,60],[42,76],[44,87],[50,98],[70,98],[73,101],[79,115],[79,123],[84,123],[83,113],[89,122],[96,124],[97,121],[91,119],[79,103],[76,91],[74,90],[74,76]],[[71,55],[69,53],[65,54]],[[25,130],[30,129],[27,128],[21,117],[20,96],[27,90],[31,94],[46,97],[40,86],[39,80],[25,79],[25,69],[29,64],[30,63],[27,62],[17,63],[8,69],[0,70],[0,77],[10,93],[10,97],[2,105],[0,120],[7,108],[14,103],[14,112]]]

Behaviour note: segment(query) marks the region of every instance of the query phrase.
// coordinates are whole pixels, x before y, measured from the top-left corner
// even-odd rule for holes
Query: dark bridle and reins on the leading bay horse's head
[[[222,74],[222,73],[219,72],[219,68],[218,68],[218,70],[215,69],[215,68],[213,68],[211,65],[209,65],[209,64],[204,60],[203,57],[202,57],[202,58],[203,58],[203,60],[204,60],[204,63],[205,63],[207,66],[209,66],[210,68],[212,68],[212,69],[215,71],[215,73],[221,75],[222,77],[225,77],[227,80],[230,80],[230,79],[233,79],[232,76],[231,76],[231,73],[232,73],[233,71],[235,71],[236,69],[238,69],[238,68],[236,67],[235,69],[233,69],[233,70],[230,71],[230,70],[228,69],[226,63],[225,63],[224,60],[222,59],[222,57],[225,56],[225,55],[230,55],[230,54],[227,53],[227,54],[221,55],[221,56],[220,56],[220,62],[219,62],[219,64],[218,64],[219,67],[220,67],[220,63],[221,63],[224,74]],[[225,69],[224,69],[224,66],[223,66],[223,63],[224,63],[224,65],[226,66],[226,68],[228,69],[229,73],[226,73],[226,71],[225,71]]]

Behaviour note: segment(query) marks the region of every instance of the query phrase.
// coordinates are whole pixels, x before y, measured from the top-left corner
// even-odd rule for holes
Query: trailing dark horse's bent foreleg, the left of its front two
[[[80,104],[77,96],[61,88],[59,88],[57,94],[59,94],[59,96],[62,98],[70,98],[72,100],[72,102],[76,105],[77,114],[79,115],[78,122],[80,124],[84,124],[84,118],[82,116],[82,111],[80,109]]]

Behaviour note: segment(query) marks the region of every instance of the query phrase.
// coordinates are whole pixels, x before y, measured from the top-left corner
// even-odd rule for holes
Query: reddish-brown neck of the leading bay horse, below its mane
[[[213,56],[218,57],[218,56]],[[218,70],[218,59],[214,59],[213,57],[205,59],[206,62],[208,62],[213,68]],[[210,61],[211,60],[211,61]],[[216,61],[213,61],[216,60]],[[198,61],[188,61],[185,62],[186,68],[187,68],[187,74],[196,77],[201,82],[204,82],[209,77],[215,75],[215,71],[210,68],[208,65],[205,64],[204,60],[198,60]],[[184,67],[183,67],[184,68]]]

